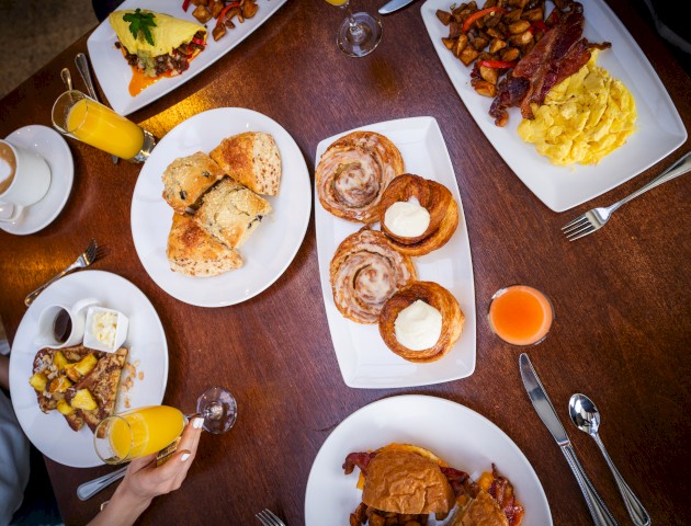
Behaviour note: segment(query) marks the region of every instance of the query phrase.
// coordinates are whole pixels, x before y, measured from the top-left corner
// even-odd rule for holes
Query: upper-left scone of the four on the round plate
[[[206,153],[180,157],[163,172],[163,198],[175,213],[184,214],[223,176],[224,171]]]

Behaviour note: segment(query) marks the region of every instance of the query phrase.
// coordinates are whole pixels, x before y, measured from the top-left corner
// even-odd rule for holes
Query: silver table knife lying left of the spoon
[[[568,439],[566,435],[566,431],[564,431],[564,426],[559,421],[559,418],[554,410],[554,405],[550,401],[550,397],[547,397],[547,392],[544,387],[540,382],[540,378],[537,378],[537,374],[533,368],[533,364],[531,364],[528,354],[522,353],[519,358],[519,366],[521,369],[521,378],[523,379],[523,386],[525,386],[525,390],[528,391],[528,396],[530,397],[530,401],[533,402],[533,408],[540,415],[540,419],[545,424],[552,436],[556,441],[556,443],[562,448],[562,453],[566,457],[566,461],[568,462],[568,467],[571,468],[571,471],[576,476],[576,480],[578,481],[578,485],[580,487],[580,491],[584,493],[584,498],[586,499],[586,504],[588,504],[588,511],[592,516],[592,521],[596,526],[616,526],[618,523],[612,515],[612,512],[609,511],[598,492],[590,482],[590,479],[584,471],[584,468],[580,466],[578,461],[578,457],[576,456],[576,451],[571,446],[571,442]]]

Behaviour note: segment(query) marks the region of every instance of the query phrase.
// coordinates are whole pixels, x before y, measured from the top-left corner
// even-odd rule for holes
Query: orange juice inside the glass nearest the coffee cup
[[[132,159],[144,146],[144,132],[132,121],[90,99],[69,110],[67,132],[79,140],[121,159]]]

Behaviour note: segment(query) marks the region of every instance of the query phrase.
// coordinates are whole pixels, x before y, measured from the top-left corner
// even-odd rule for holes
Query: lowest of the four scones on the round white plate
[[[208,235],[189,216],[173,214],[168,236],[168,262],[188,276],[217,276],[242,266],[240,254]]]

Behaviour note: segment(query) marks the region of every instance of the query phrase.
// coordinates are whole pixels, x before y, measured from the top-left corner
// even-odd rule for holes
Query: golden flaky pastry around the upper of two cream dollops
[[[421,236],[406,238],[396,236],[386,226],[384,214],[394,203],[418,199],[430,214],[430,224]],[[396,178],[382,196],[382,231],[404,254],[424,255],[443,247],[458,226],[458,205],[443,184],[419,175],[404,173]]]

